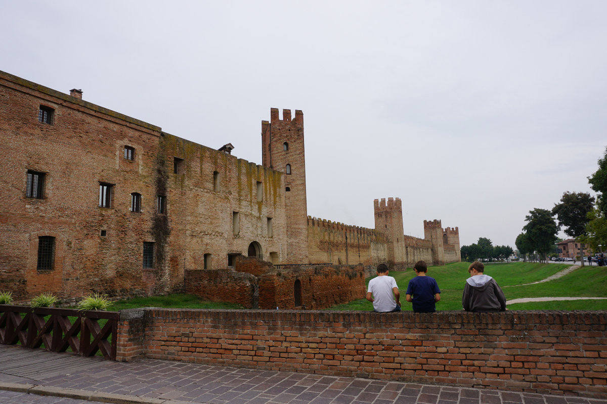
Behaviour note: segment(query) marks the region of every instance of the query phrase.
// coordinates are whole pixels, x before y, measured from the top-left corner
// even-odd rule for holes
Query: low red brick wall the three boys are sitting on
[[[606,311],[124,310],[137,357],[607,398]]]

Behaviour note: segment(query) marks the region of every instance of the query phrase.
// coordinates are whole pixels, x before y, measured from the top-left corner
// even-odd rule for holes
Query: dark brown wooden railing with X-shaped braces
[[[21,316],[25,314],[25,316]],[[45,319],[45,317],[47,317]],[[76,317],[72,323],[69,317]],[[101,328],[99,320],[107,320]],[[74,309],[0,305],[0,343],[47,351],[64,352],[68,348],[81,356],[101,351],[105,359],[116,359],[117,311],[78,311]],[[111,334],[111,343],[107,338]]]

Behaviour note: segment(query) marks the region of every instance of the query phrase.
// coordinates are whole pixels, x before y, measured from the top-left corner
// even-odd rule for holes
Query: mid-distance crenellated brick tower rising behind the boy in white
[[[385,234],[387,240],[387,265],[390,270],[405,269],[404,231],[402,230],[402,202],[400,198],[373,201],[375,230]]]

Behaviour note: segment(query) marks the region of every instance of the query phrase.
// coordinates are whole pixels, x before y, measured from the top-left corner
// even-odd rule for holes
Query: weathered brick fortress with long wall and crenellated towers
[[[376,200],[375,230],[308,216],[303,113],[270,115],[256,165],[228,145],[215,150],[91,104],[81,91],[0,72],[0,290],[21,300],[184,291],[186,271],[227,271],[239,254],[367,271],[459,259],[457,228],[438,222],[423,240],[405,237],[398,198]],[[48,240],[52,253],[41,255]]]

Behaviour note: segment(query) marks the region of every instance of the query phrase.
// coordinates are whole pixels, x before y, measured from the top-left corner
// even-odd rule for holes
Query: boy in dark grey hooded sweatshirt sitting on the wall
[[[497,313],[506,310],[506,296],[495,279],[485,275],[485,266],[475,261],[468,267],[470,277],[466,280],[461,305],[473,313]]]

